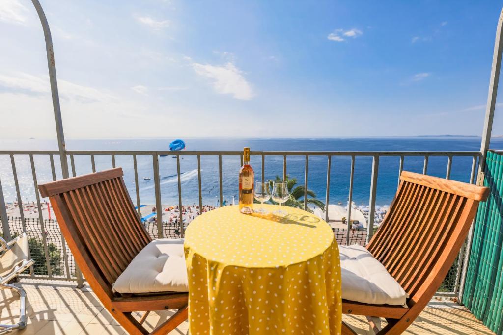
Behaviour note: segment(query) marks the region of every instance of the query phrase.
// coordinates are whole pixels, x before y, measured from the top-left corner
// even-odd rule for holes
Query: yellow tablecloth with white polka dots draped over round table
[[[313,214],[283,209],[288,215],[279,217],[224,206],[191,222],[184,247],[192,335],[341,333],[333,232]]]

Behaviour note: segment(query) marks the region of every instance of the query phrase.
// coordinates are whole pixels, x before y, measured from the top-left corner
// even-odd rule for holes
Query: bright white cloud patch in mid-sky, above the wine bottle
[[[255,96],[243,72],[231,62],[222,66],[192,63],[192,68],[200,76],[210,79],[213,89],[219,94],[232,94],[234,98],[242,100]]]

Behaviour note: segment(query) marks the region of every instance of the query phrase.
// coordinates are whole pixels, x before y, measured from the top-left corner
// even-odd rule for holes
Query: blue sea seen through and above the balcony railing
[[[122,140],[67,140],[68,150],[169,150],[169,143],[174,139],[122,139]],[[271,151],[478,151],[480,137],[389,137],[389,138],[187,138],[186,150],[225,151],[242,150],[250,147],[254,150]],[[0,150],[57,150],[55,140],[2,140]],[[503,138],[493,138],[491,149],[503,149]],[[27,155],[15,155],[15,163],[23,201],[34,201],[35,188],[30,159]],[[116,156],[116,166],[124,170],[125,184],[136,204],[133,158],[130,155]],[[176,159],[172,155],[159,157],[161,202],[163,205],[179,203]],[[74,158],[77,175],[91,173],[91,157],[76,155]],[[397,189],[399,157],[381,157],[377,180],[377,205],[388,205]],[[47,155],[34,156],[38,184],[52,181],[50,160]],[[251,156],[251,166],[255,169],[255,179],[271,180],[283,175],[283,157],[266,156],[265,173],[262,176],[262,158]],[[430,157],[429,175],[445,177],[447,157]],[[54,157],[56,178],[61,178],[58,156]],[[96,170],[112,167],[108,155],[95,156]],[[424,157],[406,157],[403,169],[422,172]],[[472,166],[471,157],[454,157],[451,179],[469,182]],[[237,202],[238,171],[240,159],[237,156],[222,157],[222,193],[226,203]],[[154,204],[154,178],[152,157],[137,156],[138,189],[141,204]],[[71,167],[70,167],[71,169]],[[196,156],[183,156],[180,160],[181,189],[183,204],[199,203],[198,170]],[[357,157],[355,160],[353,201],[357,205],[368,205],[372,171],[371,157]],[[327,157],[310,156],[307,185],[316,197],[325,202]],[[328,203],[346,205],[349,196],[351,157],[332,157],[330,169],[330,187]],[[70,170],[71,173],[71,170]],[[304,184],[305,157],[289,156],[287,174],[295,178],[298,185]],[[143,179],[144,177],[150,180]],[[0,155],[1,186],[7,202],[16,200],[16,189],[9,155]],[[204,204],[217,205],[219,201],[218,156],[201,156],[201,194]]]

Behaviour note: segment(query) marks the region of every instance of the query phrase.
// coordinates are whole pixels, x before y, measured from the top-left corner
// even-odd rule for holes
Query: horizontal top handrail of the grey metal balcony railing
[[[0,151],[0,154],[58,154],[56,151],[23,151],[23,150],[18,150],[18,151]],[[69,150],[67,151],[69,154],[74,154],[74,155],[154,155],[154,154],[159,154],[159,155],[172,155],[172,156],[178,156],[178,155],[183,155],[183,156],[217,156],[217,155],[223,155],[223,156],[242,156],[242,151],[141,151],[141,150],[135,150],[135,151],[130,151],[130,150]],[[260,156],[260,155],[265,155],[265,156],[348,156],[348,155],[355,155],[355,156],[448,156],[448,155],[455,155],[455,156],[480,156],[479,151],[250,151],[250,155],[254,156]]]

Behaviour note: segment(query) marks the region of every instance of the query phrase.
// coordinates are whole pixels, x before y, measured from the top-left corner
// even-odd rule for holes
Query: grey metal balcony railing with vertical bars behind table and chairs
[[[169,155],[176,158],[176,178],[177,178],[177,188],[178,188],[178,205],[179,208],[183,207],[184,199],[183,199],[183,183],[181,181],[181,159],[186,157],[193,157],[192,159],[197,159],[197,176],[198,176],[198,200],[199,200],[199,208],[203,208],[205,204],[203,201],[203,193],[202,193],[202,175],[201,175],[201,158],[205,158],[208,156],[213,156],[218,158],[218,169],[215,173],[218,174],[218,204],[221,205],[224,197],[223,192],[223,169],[222,169],[222,157],[233,157],[235,171],[242,165],[242,152],[241,151],[66,151],[68,165],[71,166],[71,175],[75,176],[77,174],[82,174],[82,170],[86,170],[89,172],[97,171],[97,157],[109,157],[109,164],[101,163],[98,168],[106,169],[116,167],[116,159],[120,157],[121,165],[125,171],[132,172],[134,179],[134,189],[130,189],[131,198],[133,202],[136,203],[136,207],[139,215],[141,216],[141,203],[140,203],[140,187],[139,187],[139,178],[138,175],[138,159],[141,157],[142,162],[145,162],[145,159],[148,161],[151,160],[151,169],[153,173],[153,190],[154,190],[154,202],[155,207],[158,208],[156,210],[156,220],[155,222],[145,222],[145,228],[152,236],[152,238],[178,238],[184,236],[184,230],[188,225],[188,220],[183,217],[182,210],[178,212],[178,223],[170,223],[162,221],[162,195],[161,195],[161,180],[160,180],[160,166],[162,166],[162,161],[160,161],[160,157]],[[40,255],[39,259],[35,259],[37,264],[35,268],[30,270],[29,274],[25,274],[25,276],[31,276],[34,278],[43,278],[43,279],[65,279],[65,280],[77,280],[79,285],[82,282],[82,276],[78,269],[75,266],[73,258],[71,256],[70,250],[67,248],[64,239],[61,236],[61,232],[59,231],[59,227],[57,222],[54,219],[44,219],[42,214],[42,199],[40,198],[40,194],[37,190],[38,186],[38,178],[34,157],[39,158],[39,156],[48,158],[48,164],[50,165],[50,172],[52,180],[56,180],[57,176],[60,176],[59,166],[56,164],[59,162],[59,157],[55,161],[54,156],[59,156],[59,151],[51,151],[51,150],[40,150],[40,151],[0,151],[0,165],[4,168],[0,171],[4,171],[4,174],[8,170],[12,170],[12,179],[15,188],[15,196],[18,199],[19,205],[19,217],[13,216],[8,217],[7,212],[5,210],[5,196],[4,191],[2,191],[2,180],[0,179],[0,205],[2,207],[2,211],[0,211],[0,216],[2,217],[2,228],[3,234],[6,238],[10,238],[11,236],[21,233],[26,230],[32,231],[31,236],[31,249],[32,253],[36,252]],[[268,159],[272,159],[276,162],[274,166],[274,173],[278,175],[283,175],[283,178],[287,176],[287,158],[292,157],[300,157],[304,158],[303,162],[297,159],[296,162],[290,164],[296,164],[297,167],[299,164],[303,164],[303,186],[304,186],[304,199],[303,199],[303,207],[307,209],[307,189],[309,186],[309,173],[319,173],[320,171],[317,169],[310,169],[309,161],[310,157],[316,157],[318,159],[326,158],[326,189],[324,194],[324,203],[327,205],[330,202],[330,177],[332,172],[336,169],[333,164],[333,158],[338,157],[346,157],[346,159],[350,160],[349,167],[349,184],[348,184],[348,203],[351,204],[353,200],[354,193],[354,179],[355,179],[355,166],[357,166],[357,159],[361,157],[365,157],[366,161],[358,164],[371,164],[370,171],[370,188],[368,191],[369,194],[369,212],[367,217],[367,227],[368,229],[357,229],[351,230],[350,226],[347,225],[345,229],[333,229],[334,235],[338,243],[340,244],[365,244],[367,243],[374,234],[374,216],[375,216],[375,205],[376,205],[376,196],[377,196],[377,179],[379,175],[379,160],[384,157],[394,157],[398,161],[398,168],[396,170],[396,177],[398,178],[401,171],[404,169],[405,159],[413,159],[417,168],[417,164],[419,160],[421,160],[422,172],[426,174],[428,172],[428,166],[430,158],[432,157],[445,157],[447,158],[446,170],[445,170],[445,178],[451,178],[451,171],[453,167],[453,158],[462,157],[467,163],[467,160],[471,158],[471,169],[470,164],[464,164],[466,166],[466,171],[463,171],[463,175],[466,175],[466,180],[462,180],[465,182],[474,182],[475,171],[478,159],[481,157],[480,152],[478,151],[444,151],[444,152],[436,152],[436,151],[404,151],[404,152],[395,152],[395,151],[379,151],[379,152],[367,152],[367,151],[254,151],[251,152],[252,161],[255,160],[255,163],[259,163],[259,168],[257,168],[257,164],[254,164],[256,169],[256,179],[261,177],[261,179],[266,179],[266,162]],[[88,158],[88,166],[83,166],[86,163],[85,160],[82,159]],[[239,158],[239,166],[237,158]],[[38,218],[25,218],[23,211],[23,203],[22,203],[22,192],[20,188],[20,177],[18,174],[18,170],[16,167],[16,161],[25,160],[24,162],[29,161],[28,172],[23,174],[24,181],[26,183],[26,178],[30,175],[30,178],[33,181],[33,191],[34,198],[36,202],[36,209],[38,211]],[[132,171],[130,165],[122,164],[124,162],[129,161],[129,164],[132,163]],[[281,164],[282,160],[282,164]],[[369,161],[371,160],[371,161]],[[11,165],[11,169],[9,169],[8,165]],[[47,162],[47,160],[46,160]],[[56,162],[56,164],[55,164]],[[280,162],[280,163],[278,163]],[[77,163],[77,164],[76,164]],[[319,163],[319,162],[318,162]],[[27,164],[28,165],[28,164]],[[281,166],[282,165],[282,166]],[[319,164],[318,164],[319,166]],[[77,169],[78,168],[78,173]],[[387,168],[387,167],[386,167]],[[128,170],[129,169],[129,170]],[[26,171],[25,171],[26,172]],[[323,171],[322,171],[323,172]],[[392,173],[392,171],[385,171],[386,173]],[[437,171],[438,173],[438,171]],[[10,173],[9,173],[10,174]],[[237,174],[237,172],[236,172]],[[175,175],[174,175],[175,176]],[[5,175],[0,177],[4,178]],[[356,176],[360,177],[360,176]],[[47,180],[48,181],[48,180]],[[31,182],[30,182],[31,183]],[[352,206],[348,206],[347,212],[347,222],[351,222],[352,216]],[[328,210],[325,210],[325,220],[328,222]],[[62,255],[61,255],[62,253]],[[62,259],[61,259],[62,256]],[[460,252],[457,262],[453,265],[448,277],[444,282],[444,286],[447,287],[447,291],[449,292],[441,292],[440,295],[456,295],[458,292],[461,270],[463,267],[463,262],[465,260],[464,249]],[[445,289],[445,288],[444,288]]]

